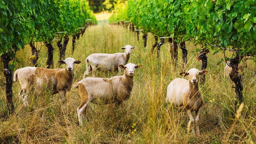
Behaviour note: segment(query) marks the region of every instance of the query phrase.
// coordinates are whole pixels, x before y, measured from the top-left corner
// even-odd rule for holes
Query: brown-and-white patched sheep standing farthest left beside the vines
[[[64,61],[59,60],[59,64],[66,64],[65,69],[46,69],[40,67],[23,67],[14,72],[13,81],[17,78],[21,85],[19,97],[24,105],[28,105],[27,95],[31,93],[31,87],[34,87],[36,94],[39,94],[46,85],[46,88],[53,88],[52,94],[59,93],[62,104],[65,102],[66,92],[70,91],[74,80],[74,64],[80,64],[81,61],[75,61],[68,57]]]

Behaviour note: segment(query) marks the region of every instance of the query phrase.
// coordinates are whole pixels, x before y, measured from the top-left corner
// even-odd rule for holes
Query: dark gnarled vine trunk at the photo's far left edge
[[[3,74],[5,75],[5,93],[6,93],[6,103],[8,106],[8,112],[9,114],[13,113],[14,106],[12,101],[12,75],[13,72],[9,67],[9,61],[11,61],[10,56],[8,54],[3,54],[1,56],[1,59],[3,61]]]

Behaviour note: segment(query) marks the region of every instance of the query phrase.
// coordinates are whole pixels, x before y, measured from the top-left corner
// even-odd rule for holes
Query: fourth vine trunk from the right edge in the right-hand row
[[[170,53],[171,53],[171,59],[174,66],[177,64],[178,60],[178,45],[175,41],[176,38],[168,38],[168,42],[171,44],[170,46]]]

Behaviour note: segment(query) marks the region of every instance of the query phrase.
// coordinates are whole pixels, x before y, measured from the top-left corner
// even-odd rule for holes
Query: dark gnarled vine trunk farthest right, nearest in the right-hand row
[[[238,73],[238,63],[240,61],[240,57],[237,55],[235,58],[230,60],[230,66],[232,67],[232,71],[229,74],[231,80],[235,83],[235,92],[236,92],[236,101],[235,108],[237,104],[243,101],[243,83],[242,76]]]

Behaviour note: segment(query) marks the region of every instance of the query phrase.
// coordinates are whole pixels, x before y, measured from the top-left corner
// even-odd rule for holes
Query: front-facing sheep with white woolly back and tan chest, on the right
[[[208,74],[208,70],[190,69],[187,72],[181,72],[180,75],[189,75],[189,80],[177,78],[171,81],[167,87],[166,103],[182,108],[187,111],[189,115],[189,123],[187,130],[189,131],[190,125],[192,126],[192,133],[199,133],[199,113],[203,105],[203,97],[198,85],[199,75]],[[192,112],[195,111],[195,121]],[[195,130],[194,130],[195,123]]]

